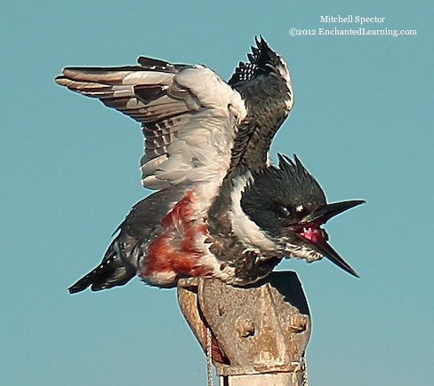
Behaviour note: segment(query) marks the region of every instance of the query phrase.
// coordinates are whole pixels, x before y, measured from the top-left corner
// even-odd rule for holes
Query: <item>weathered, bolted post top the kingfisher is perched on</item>
[[[307,384],[310,317],[295,272],[272,272],[243,288],[183,279],[178,301],[204,351],[211,349],[221,386]]]

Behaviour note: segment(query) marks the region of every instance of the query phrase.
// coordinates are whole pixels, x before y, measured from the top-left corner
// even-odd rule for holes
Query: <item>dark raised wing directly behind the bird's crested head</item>
[[[240,125],[232,154],[231,169],[244,164],[253,171],[268,162],[271,140],[293,108],[291,75],[285,60],[261,37],[240,62],[229,84],[243,97],[248,114]]]

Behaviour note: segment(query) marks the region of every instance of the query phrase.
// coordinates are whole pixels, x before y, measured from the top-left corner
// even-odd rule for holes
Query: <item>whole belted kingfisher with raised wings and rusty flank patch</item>
[[[66,67],[55,81],[141,122],[141,184],[157,192],[133,206],[102,262],[69,288],[161,288],[213,276],[261,280],[283,257],[327,257],[357,273],[321,225],[364,201],[327,204],[294,155],[270,165],[269,146],[293,107],[285,60],[261,38],[229,82],[202,65],[139,58],[139,66]]]

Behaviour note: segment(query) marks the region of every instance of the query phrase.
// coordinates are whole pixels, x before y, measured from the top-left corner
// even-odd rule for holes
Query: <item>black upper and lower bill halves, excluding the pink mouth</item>
[[[363,200],[353,200],[353,201],[342,201],[335,202],[333,204],[326,204],[323,207],[318,208],[313,213],[303,218],[303,224],[315,224],[317,226],[325,224],[330,218],[339,215],[345,210],[354,208],[360,204],[365,203]],[[358,273],[354,271],[349,264],[347,264],[341,256],[330,246],[330,244],[326,241],[326,233],[322,231],[325,237],[320,238],[317,242],[312,242],[310,240],[309,243],[317,249],[323,256],[327,257],[332,263],[336,264],[338,267],[341,267],[342,270],[349,272],[351,275],[358,278]]]

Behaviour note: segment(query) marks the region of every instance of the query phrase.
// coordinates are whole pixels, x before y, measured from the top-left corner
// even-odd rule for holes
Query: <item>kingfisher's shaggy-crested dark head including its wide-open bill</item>
[[[322,257],[358,277],[328,243],[321,225],[365,201],[328,204],[325,194],[294,155],[294,161],[278,155],[279,167],[267,167],[245,186],[241,208],[261,231],[266,232],[283,255],[314,261]]]

